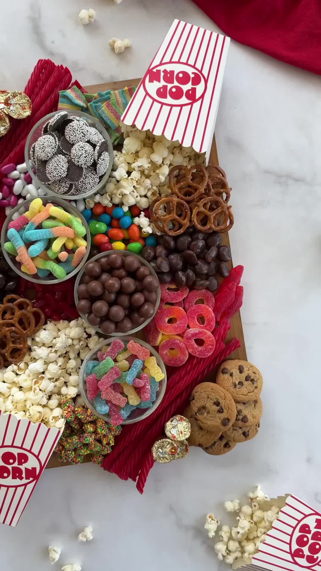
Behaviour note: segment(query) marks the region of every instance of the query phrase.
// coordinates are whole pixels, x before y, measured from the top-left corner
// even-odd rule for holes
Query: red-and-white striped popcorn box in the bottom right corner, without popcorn
[[[278,505],[278,519],[259,544],[251,565],[238,569],[299,571],[321,568],[321,513],[295,496],[279,496],[260,504],[263,510]]]

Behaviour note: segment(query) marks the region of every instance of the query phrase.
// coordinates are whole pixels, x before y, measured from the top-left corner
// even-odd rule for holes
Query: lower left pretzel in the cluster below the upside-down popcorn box
[[[166,210],[166,214],[161,214],[160,210]],[[168,236],[183,234],[190,224],[190,209],[184,200],[176,196],[164,196],[154,200],[150,214],[157,230]]]

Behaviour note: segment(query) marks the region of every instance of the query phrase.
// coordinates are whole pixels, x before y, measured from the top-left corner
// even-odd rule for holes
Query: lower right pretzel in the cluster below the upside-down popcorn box
[[[202,232],[228,232],[234,218],[231,206],[220,196],[206,196],[195,205],[192,222]]]

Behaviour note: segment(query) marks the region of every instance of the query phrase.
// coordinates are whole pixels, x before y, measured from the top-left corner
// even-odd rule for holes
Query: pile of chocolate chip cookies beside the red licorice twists
[[[263,412],[262,386],[260,371],[248,361],[222,363],[216,383],[197,385],[183,412],[191,423],[188,444],[219,456],[251,440],[258,433]]]

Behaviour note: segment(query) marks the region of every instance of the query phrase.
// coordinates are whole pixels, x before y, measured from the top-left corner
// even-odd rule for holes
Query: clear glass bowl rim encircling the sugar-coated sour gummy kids
[[[96,409],[94,408],[94,405],[91,403],[91,401],[87,397],[85,368],[86,368],[86,364],[88,363],[88,361],[95,360],[95,358],[97,357],[98,351],[100,351],[103,347],[105,347],[105,345],[110,345],[110,343],[112,341],[114,341],[114,339],[117,339],[117,337],[109,337],[108,339],[102,340],[101,343],[99,343],[97,345],[97,347],[95,347],[93,349],[93,351],[90,351],[90,353],[88,353],[88,355],[86,356],[85,361],[83,361],[83,364],[81,366],[81,371],[79,373],[79,387],[81,389],[81,395],[82,395],[83,399],[85,400],[86,406],[88,408],[90,408],[90,410],[96,416],[99,416],[99,418],[105,420],[106,422],[110,422],[110,416],[109,415],[101,415],[101,413],[97,412]],[[133,424],[133,423],[137,423],[139,420],[146,419],[147,416],[151,415],[151,413],[153,413],[157,409],[158,405],[162,401],[163,396],[164,396],[165,391],[166,391],[166,383],[167,383],[166,368],[165,368],[165,365],[164,365],[162,359],[160,359],[160,356],[155,351],[155,349],[153,349],[153,347],[151,347],[148,343],[145,343],[145,341],[142,341],[141,339],[136,339],[135,337],[131,337],[131,336],[119,337],[119,339],[121,341],[127,341],[127,342],[130,341],[131,339],[133,339],[133,341],[135,341],[135,343],[139,343],[139,344],[143,345],[143,347],[146,347],[146,349],[149,349],[150,355],[155,357],[158,366],[162,369],[162,372],[165,375],[164,378],[161,381],[159,381],[159,383],[158,383],[159,389],[156,393],[156,399],[154,400],[153,406],[150,408],[147,408],[147,409],[146,408],[135,408],[134,411],[132,411],[130,413],[130,415],[127,417],[127,419],[123,420],[123,422],[122,422],[122,425],[123,424]]]

